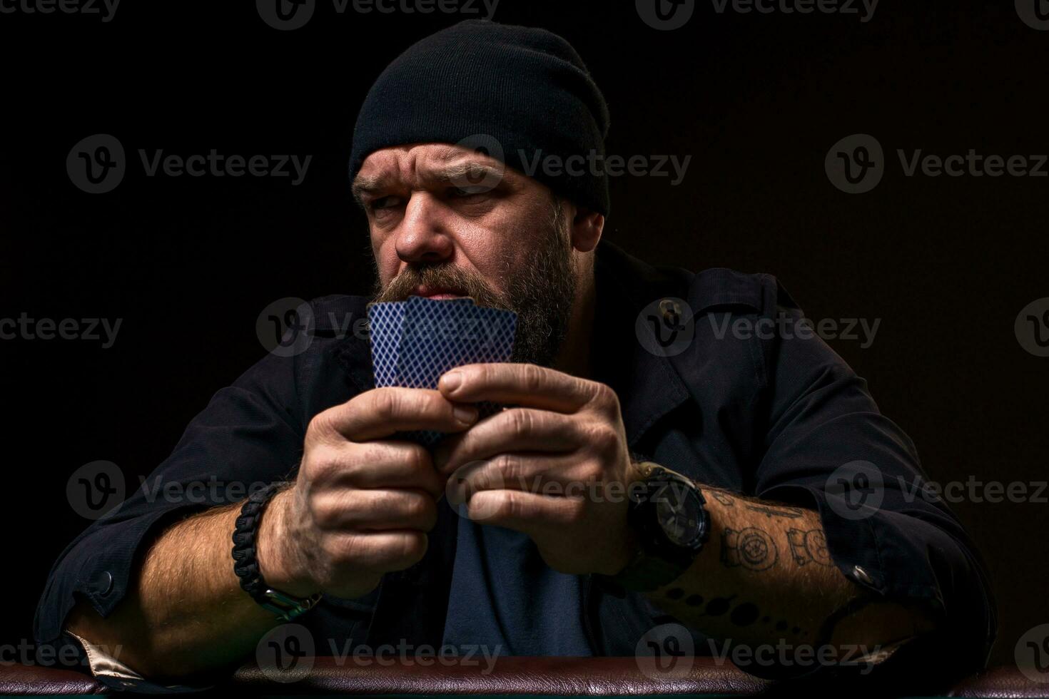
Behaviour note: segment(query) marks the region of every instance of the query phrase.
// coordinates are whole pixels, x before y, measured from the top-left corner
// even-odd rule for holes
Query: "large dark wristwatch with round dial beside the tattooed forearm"
[[[616,575],[595,575],[619,596],[650,592],[680,577],[710,534],[710,514],[695,483],[650,461],[637,467],[642,478],[629,486],[626,518],[640,548]]]

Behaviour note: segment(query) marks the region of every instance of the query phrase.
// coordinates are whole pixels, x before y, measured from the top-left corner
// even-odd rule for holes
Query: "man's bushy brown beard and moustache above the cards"
[[[492,289],[484,278],[451,264],[410,264],[385,288],[377,281],[372,297],[376,302],[404,301],[419,286],[462,289],[478,306],[517,313],[511,362],[550,367],[564,342],[576,298],[570,232],[568,222],[562,221],[559,202],[554,203],[552,214],[552,220],[543,223],[538,249],[530,256],[527,267],[511,269],[509,255],[504,260],[504,285],[508,289],[505,296]]]

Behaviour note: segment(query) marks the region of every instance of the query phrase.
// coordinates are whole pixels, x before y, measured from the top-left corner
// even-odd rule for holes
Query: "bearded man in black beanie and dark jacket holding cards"
[[[776,280],[602,241],[608,125],[542,29],[467,21],[394,60],[350,159],[374,294],[313,302],[303,351],[214,396],[150,482],[217,480],[215,502],[140,490],[92,524],[51,571],[38,640],[152,691],[207,683],[292,619],[318,654],[728,645],[830,650],[743,667],[770,677],[841,671],[845,648],[868,670],[982,667],[979,553],[942,502],[907,497],[913,443]],[[511,361],[376,388],[367,337],[328,319],[413,296],[515,311]]]

